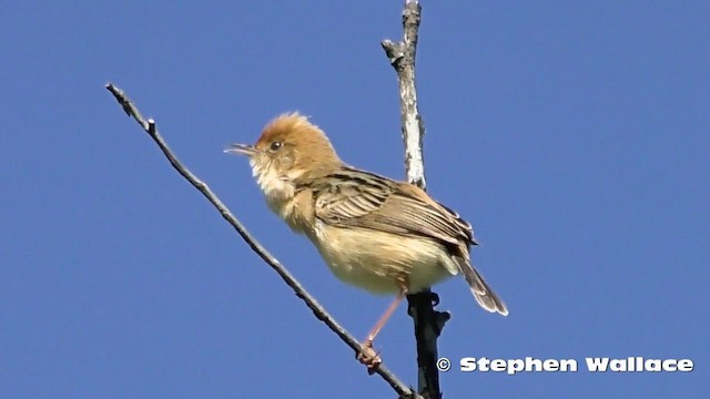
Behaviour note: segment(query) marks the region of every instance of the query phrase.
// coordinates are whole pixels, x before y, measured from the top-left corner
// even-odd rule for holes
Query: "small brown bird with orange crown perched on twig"
[[[339,279],[375,294],[397,294],[367,336],[361,360],[375,367],[373,340],[407,294],[457,274],[486,310],[506,305],[470,264],[471,226],[419,187],[348,166],[325,133],[298,113],[270,122],[244,154],[268,206],[305,234]]]

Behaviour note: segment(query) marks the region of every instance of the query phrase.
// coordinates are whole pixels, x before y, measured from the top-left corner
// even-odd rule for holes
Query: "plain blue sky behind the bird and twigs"
[[[710,388],[710,3],[424,3],[430,194],[469,219],[505,298],[435,290],[442,356],[690,358],[687,374],[442,375],[446,397],[703,397]],[[244,160],[283,111],[404,177],[399,1],[9,2],[0,13],[0,397],[394,397],[180,177],[103,89],[363,337],[343,285]],[[377,340],[416,383],[404,307]]]

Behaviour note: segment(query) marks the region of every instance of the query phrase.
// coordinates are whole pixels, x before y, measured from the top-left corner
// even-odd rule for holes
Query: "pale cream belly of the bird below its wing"
[[[406,282],[417,293],[453,276],[457,266],[434,241],[358,228],[341,228],[316,222],[311,237],[333,274],[343,282],[374,294],[396,294]]]

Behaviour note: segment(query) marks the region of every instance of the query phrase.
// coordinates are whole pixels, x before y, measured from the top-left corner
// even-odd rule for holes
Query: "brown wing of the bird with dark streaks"
[[[315,215],[333,226],[416,235],[459,246],[476,244],[470,225],[423,190],[344,168],[314,188]]]

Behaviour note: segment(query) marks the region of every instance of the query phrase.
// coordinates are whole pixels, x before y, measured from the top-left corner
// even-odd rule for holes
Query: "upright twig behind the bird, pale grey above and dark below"
[[[402,13],[404,38],[400,42],[384,40],[382,47],[389,63],[397,72],[399,81],[399,105],[402,112],[402,137],[405,145],[405,167],[407,180],[426,190],[424,176],[423,137],[424,122],[417,105],[415,63],[422,7],[416,0],[407,0]],[[418,392],[426,398],[442,398],[439,374],[436,367],[438,350],[436,340],[446,321],[447,311],[438,311],[438,296],[426,289],[408,295],[409,315],[414,319],[414,332],[417,339]]]

